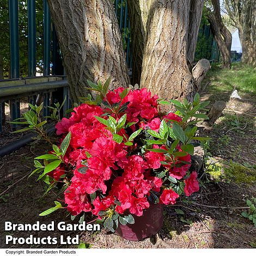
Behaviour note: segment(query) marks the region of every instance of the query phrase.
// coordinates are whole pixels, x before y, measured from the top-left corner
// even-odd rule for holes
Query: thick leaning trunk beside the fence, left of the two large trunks
[[[72,102],[84,96],[87,79],[112,88],[129,84],[121,35],[109,0],[48,0]]]

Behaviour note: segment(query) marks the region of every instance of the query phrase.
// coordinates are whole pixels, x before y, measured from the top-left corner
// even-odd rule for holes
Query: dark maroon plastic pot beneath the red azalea
[[[135,219],[134,224],[122,225],[119,223],[115,234],[130,241],[141,241],[151,235],[155,235],[163,225],[163,205],[151,204],[143,215]]]

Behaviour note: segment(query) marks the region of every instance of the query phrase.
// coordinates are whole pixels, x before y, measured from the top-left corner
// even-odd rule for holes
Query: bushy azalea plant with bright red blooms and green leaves
[[[56,124],[53,150],[35,158],[33,173],[40,173],[48,191],[62,184],[66,204],[55,202],[41,215],[64,207],[72,218],[89,212],[114,231],[119,223],[133,224],[133,216],[142,216],[150,204],[175,204],[199,190],[191,155],[193,141],[204,139],[195,137],[196,124],[208,118],[200,111],[209,102],[200,103],[198,94],[192,103],[181,103],[158,99],[145,88],[108,90],[109,82],[88,81],[95,99],[82,98],[70,118]],[[162,110],[171,104],[175,113]],[[36,115],[37,106],[31,107],[29,115]]]

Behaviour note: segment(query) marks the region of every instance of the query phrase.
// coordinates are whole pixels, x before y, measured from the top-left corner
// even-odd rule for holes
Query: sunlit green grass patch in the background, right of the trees
[[[210,80],[212,85],[209,93],[216,90],[231,93],[235,88],[242,95],[256,95],[256,69],[252,66],[233,63],[231,70],[228,70],[221,69],[220,64],[212,64],[206,80]]]

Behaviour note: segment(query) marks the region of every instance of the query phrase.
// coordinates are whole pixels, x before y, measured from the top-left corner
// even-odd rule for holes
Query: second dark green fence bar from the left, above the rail
[[[35,0],[28,0],[28,76],[35,76]]]

